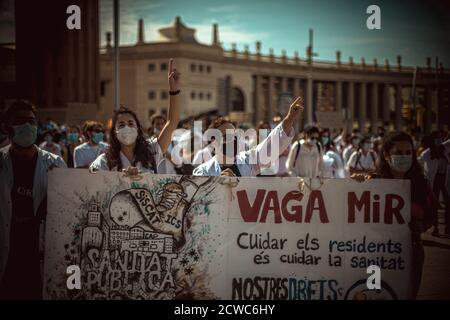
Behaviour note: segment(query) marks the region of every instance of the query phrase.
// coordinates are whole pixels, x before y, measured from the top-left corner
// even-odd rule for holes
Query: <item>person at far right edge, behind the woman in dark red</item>
[[[423,151],[418,160],[438,199],[442,193],[445,204],[445,233],[450,234],[450,139],[441,143],[438,133],[433,133],[432,136],[433,145]],[[437,219],[432,234],[439,235]]]

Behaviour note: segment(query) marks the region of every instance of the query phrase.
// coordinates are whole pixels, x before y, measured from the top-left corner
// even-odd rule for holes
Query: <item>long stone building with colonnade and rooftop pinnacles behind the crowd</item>
[[[423,132],[448,129],[450,72],[389,61],[348,61],[336,52],[336,61],[315,61],[312,48],[304,57],[298,52],[276,56],[248,47],[238,51],[233,44],[225,50],[219,41],[219,27],[212,26],[211,44],[199,43],[195,30],[177,17],[159,30],[160,40],[146,42],[144,22],[138,23],[135,45],[120,47],[121,102],[135,108],[146,126],[152,113],[164,113],[168,105],[167,67],[174,58],[182,73],[181,118],[217,110],[242,121],[257,123],[284,113],[287,102],[299,94],[305,98],[303,123],[316,121],[316,111],[339,111],[348,128],[375,131],[385,124],[390,129],[418,126]],[[113,110],[113,56],[111,35],[100,54],[100,118],[111,118]],[[413,94],[415,74],[416,90]],[[415,97],[415,98],[414,98]]]

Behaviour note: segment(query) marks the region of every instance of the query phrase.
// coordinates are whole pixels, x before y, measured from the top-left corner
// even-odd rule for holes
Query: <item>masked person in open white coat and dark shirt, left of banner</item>
[[[25,100],[5,113],[11,145],[0,149],[0,299],[40,299],[47,173],[66,168],[36,142],[37,117]]]

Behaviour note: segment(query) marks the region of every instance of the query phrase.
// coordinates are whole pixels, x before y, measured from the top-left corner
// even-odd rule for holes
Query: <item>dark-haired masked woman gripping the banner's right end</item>
[[[424,249],[421,233],[428,230],[437,212],[437,200],[428,186],[422,168],[414,153],[410,135],[392,133],[384,138],[382,154],[375,174],[356,174],[352,178],[363,181],[369,178],[407,179],[411,181],[411,229],[413,297],[417,296],[422,278]]]

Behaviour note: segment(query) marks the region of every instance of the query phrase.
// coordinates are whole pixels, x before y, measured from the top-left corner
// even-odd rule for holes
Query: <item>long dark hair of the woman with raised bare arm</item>
[[[136,163],[140,162],[144,168],[147,169],[152,168],[153,171],[156,173],[157,169],[155,161],[156,151],[153,150],[151,144],[148,143],[148,141],[146,140],[146,136],[144,135],[144,131],[142,130],[141,123],[139,122],[136,113],[133,110],[123,106],[121,106],[118,111],[114,112],[114,116],[112,119],[111,133],[109,136],[110,146],[108,148],[108,151],[106,152],[106,160],[109,169],[112,170],[112,168],[116,166],[118,170],[123,169],[122,161],[120,161],[120,142],[117,139],[116,134],[116,123],[119,115],[121,114],[130,114],[134,118],[134,121],[136,121],[136,126],[138,130],[136,146],[134,148],[135,158],[134,163],[132,165],[135,166]]]

